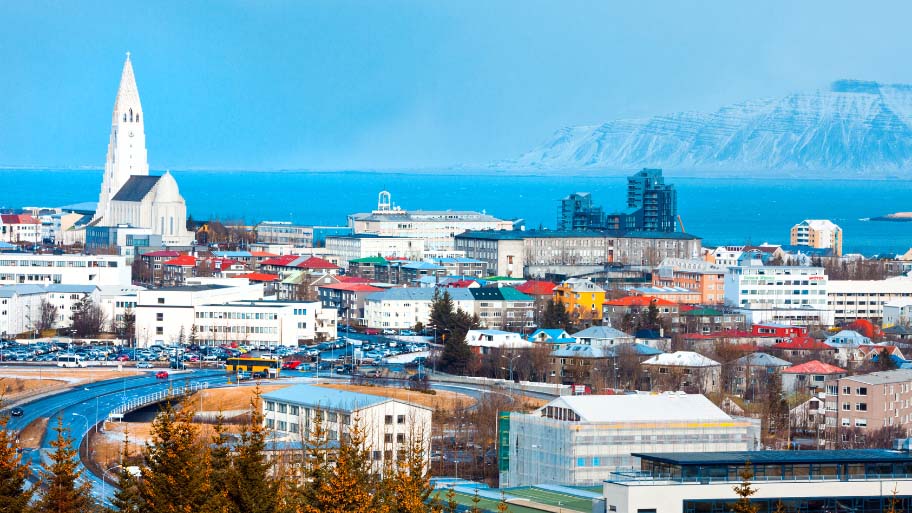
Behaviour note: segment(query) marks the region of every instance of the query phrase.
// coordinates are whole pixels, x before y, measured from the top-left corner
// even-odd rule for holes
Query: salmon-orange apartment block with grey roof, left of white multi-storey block
[[[656,287],[681,287],[700,294],[702,305],[725,302],[726,267],[699,258],[666,258],[652,274]]]

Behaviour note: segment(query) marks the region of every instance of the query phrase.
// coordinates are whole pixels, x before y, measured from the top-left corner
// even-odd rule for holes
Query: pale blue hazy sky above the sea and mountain
[[[153,169],[435,169],[570,125],[912,83],[912,2],[0,2],[0,166],[101,167],[130,51]]]

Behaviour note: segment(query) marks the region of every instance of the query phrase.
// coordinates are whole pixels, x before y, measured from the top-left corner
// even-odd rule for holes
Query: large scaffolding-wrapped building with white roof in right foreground
[[[759,427],[702,395],[580,395],[532,413],[502,413],[500,486],[592,486],[636,464],[641,451],[759,448]]]

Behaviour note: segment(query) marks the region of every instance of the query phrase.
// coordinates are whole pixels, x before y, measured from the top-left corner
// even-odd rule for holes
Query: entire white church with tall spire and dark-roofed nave
[[[168,246],[193,242],[186,229],[187,204],[170,172],[149,174],[145,113],[133,76],[130,54],[124,62],[114,101],[111,137],[98,207],[91,226],[130,226],[160,235]]]

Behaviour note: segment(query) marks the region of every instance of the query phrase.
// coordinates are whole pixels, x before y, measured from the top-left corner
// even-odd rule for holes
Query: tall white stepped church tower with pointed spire
[[[101,194],[94,221],[108,225],[111,220],[111,199],[132,175],[149,174],[146,156],[145,115],[139,103],[139,89],[133,76],[130,52],[120,75],[120,87],[114,100],[114,114],[111,118],[111,138],[108,141],[108,156],[105,173],[101,182]]]

